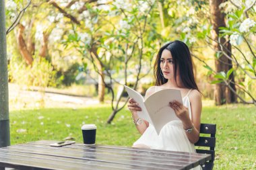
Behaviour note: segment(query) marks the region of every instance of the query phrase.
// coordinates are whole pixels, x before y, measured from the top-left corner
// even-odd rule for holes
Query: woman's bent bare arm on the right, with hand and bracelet
[[[186,132],[187,138],[191,143],[195,143],[199,140],[199,130],[201,124],[201,94],[197,90],[191,91],[189,95],[191,101],[191,119],[189,118],[189,110],[178,101],[170,103],[170,107],[177,114],[178,118],[183,122],[183,128],[185,130],[193,128],[191,132]]]

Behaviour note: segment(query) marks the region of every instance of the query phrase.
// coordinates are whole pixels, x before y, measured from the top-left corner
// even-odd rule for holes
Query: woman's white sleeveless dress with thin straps
[[[160,88],[158,88],[160,90]],[[156,91],[158,90],[156,86]],[[191,89],[183,97],[183,105],[189,109],[189,117],[191,118],[191,107],[189,101],[189,93]],[[133,143],[135,144],[144,144],[154,149],[161,149],[166,151],[181,151],[187,153],[195,153],[195,146],[189,142],[186,132],[183,129],[183,124],[181,120],[174,120],[168,122],[160,131],[160,134],[156,133],[156,130],[150,124],[146,131],[141,135],[141,137]],[[194,169],[201,169],[200,166],[195,167]]]

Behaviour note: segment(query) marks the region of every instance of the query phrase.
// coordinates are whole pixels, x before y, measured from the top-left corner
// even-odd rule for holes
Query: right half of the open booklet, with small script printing
[[[183,103],[179,89],[162,89],[150,95],[144,102],[158,134],[165,124],[172,120],[179,120],[174,110],[169,106],[169,102],[173,100]]]

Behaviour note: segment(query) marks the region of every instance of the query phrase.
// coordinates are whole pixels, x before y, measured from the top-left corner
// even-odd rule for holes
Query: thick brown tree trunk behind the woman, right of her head
[[[213,26],[212,30],[212,38],[217,41],[213,42],[214,50],[221,51],[219,41],[219,28],[226,27],[224,21],[224,13],[222,13],[219,8],[220,3],[223,3],[224,0],[210,0],[210,13],[211,13],[211,23]],[[224,44],[226,42],[225,38],[220,38],[220,43]],[[231,52],[231,46],[229,42],[226,42],[225,47],[228,48]],[[231,56],[230,52],[228,52],[224,48],[224,51]],[[229,60],[224,54],[221,54],[218,59],[215,60],[216,72],[224,71],[225,73],[232,68],[232,61]],[[230,75],[230,79],[234,82],[234,75]],[[235,88],[234,88],[235,90]],[[216,84],[216,89],[214,91],[214,98],[216,105],[222,105],[223,103],[234,103],[236,101],[234,97],[234,93],[231,93],[230,89],[226,87],[223,83]]]

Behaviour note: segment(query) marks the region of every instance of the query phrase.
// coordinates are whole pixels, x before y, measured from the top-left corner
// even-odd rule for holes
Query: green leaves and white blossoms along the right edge
[[[200,35],[201,38],[207,40],[210,46],[216,43],[220,46],[221,50],[216,51],[216,59],[220,56],[228,58],[232,61],[232,69],[226,73],[224,71],[217,73],[206,62],[203,62],[208,70],[207,75],[214,76],[213,84],[224,83],[231,91],[236,91],[238,101],[256,104],[254,97],[256,95],[255,2],[226,1],[220,5],[220,8],[226,14],[226,27],[220,28],[220,36],[226,38],[226,42],[212,40],[208,32]],[[232,51],[225,47],[228,41],[232,44]],[[228,56],[227,50],[232,53],[231,56]],[[234,82],[229,79],[232,74],[235,77]],[[236,89],[230,84],[234,84]]]

